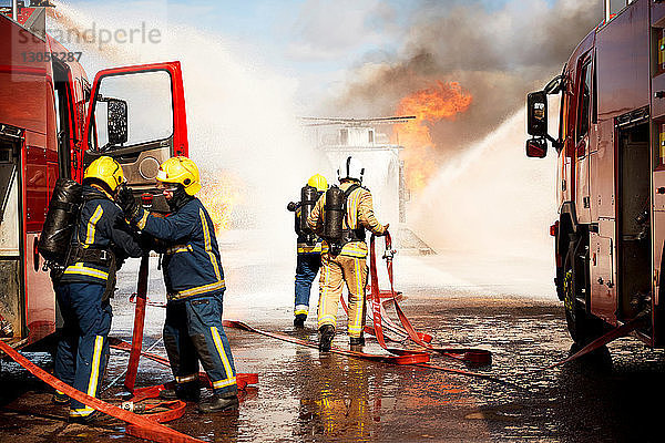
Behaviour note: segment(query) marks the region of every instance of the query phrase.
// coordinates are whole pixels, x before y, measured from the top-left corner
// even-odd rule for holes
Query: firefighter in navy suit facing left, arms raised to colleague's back
[[[222,326],[226,285],[211,217],[194,195],[201,189],[198,167],[187,157],[162,163],[157,182],[172,213],[150,214],[130,188],[117,193],[127,219],[164,247],[164,281],[167,305],[164,344],[176,381],[175,391],[163,398],[198,401],[198,361],[213,384],[212,400],[200,412],[235,409],[238,404],[236,371]]]

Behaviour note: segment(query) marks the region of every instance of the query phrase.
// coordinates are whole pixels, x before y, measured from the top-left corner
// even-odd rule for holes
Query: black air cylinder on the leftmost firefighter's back
[[[39,236],[39,254],[48,261],[64,265],[81,212],[83,187],[70,178],[58,178],[49,212]]]

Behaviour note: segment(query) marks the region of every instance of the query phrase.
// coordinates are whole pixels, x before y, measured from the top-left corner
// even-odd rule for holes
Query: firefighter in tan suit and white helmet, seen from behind
[[[349,290],[349,342],[365,344],[365,229],[385,235],[388,225],[381,225],[374,215],[371,193],[361,186],[364,174],[360,162],[347,157],[337,169],[339,187],[330,187],[307,219],[309,227],[324,239],[318,306],[319,350],[324,352],[330,350],[335,337],[342,282]]]

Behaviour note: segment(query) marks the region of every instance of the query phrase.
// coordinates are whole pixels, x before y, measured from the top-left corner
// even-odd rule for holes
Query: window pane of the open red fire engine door
[[[126,131],[120,123],[123,107],[126,107]],[[171,75],[154,71],[103,78],[94,119],[101,152],[170,138],[173,135]],[[111,136],[113,132],[115,136]],[[126,133],[126,141],[114,142],[119,133]]]

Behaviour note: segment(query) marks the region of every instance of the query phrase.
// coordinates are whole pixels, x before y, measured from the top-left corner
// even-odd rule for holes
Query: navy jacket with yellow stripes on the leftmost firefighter
[[[102,190],[83,185],[83,207],[74,234],[82,249],[101,249],[115,255],[116,267],[129,257],[141,257],[143,250],[127,225],[122,209]],[[78,241],[76,241],[78,240]],[[84,257],[84,256],[83,256]],[[85,261],[84,258],[68,266],[60,282],[92,282],[106,285],[110,264]]]

